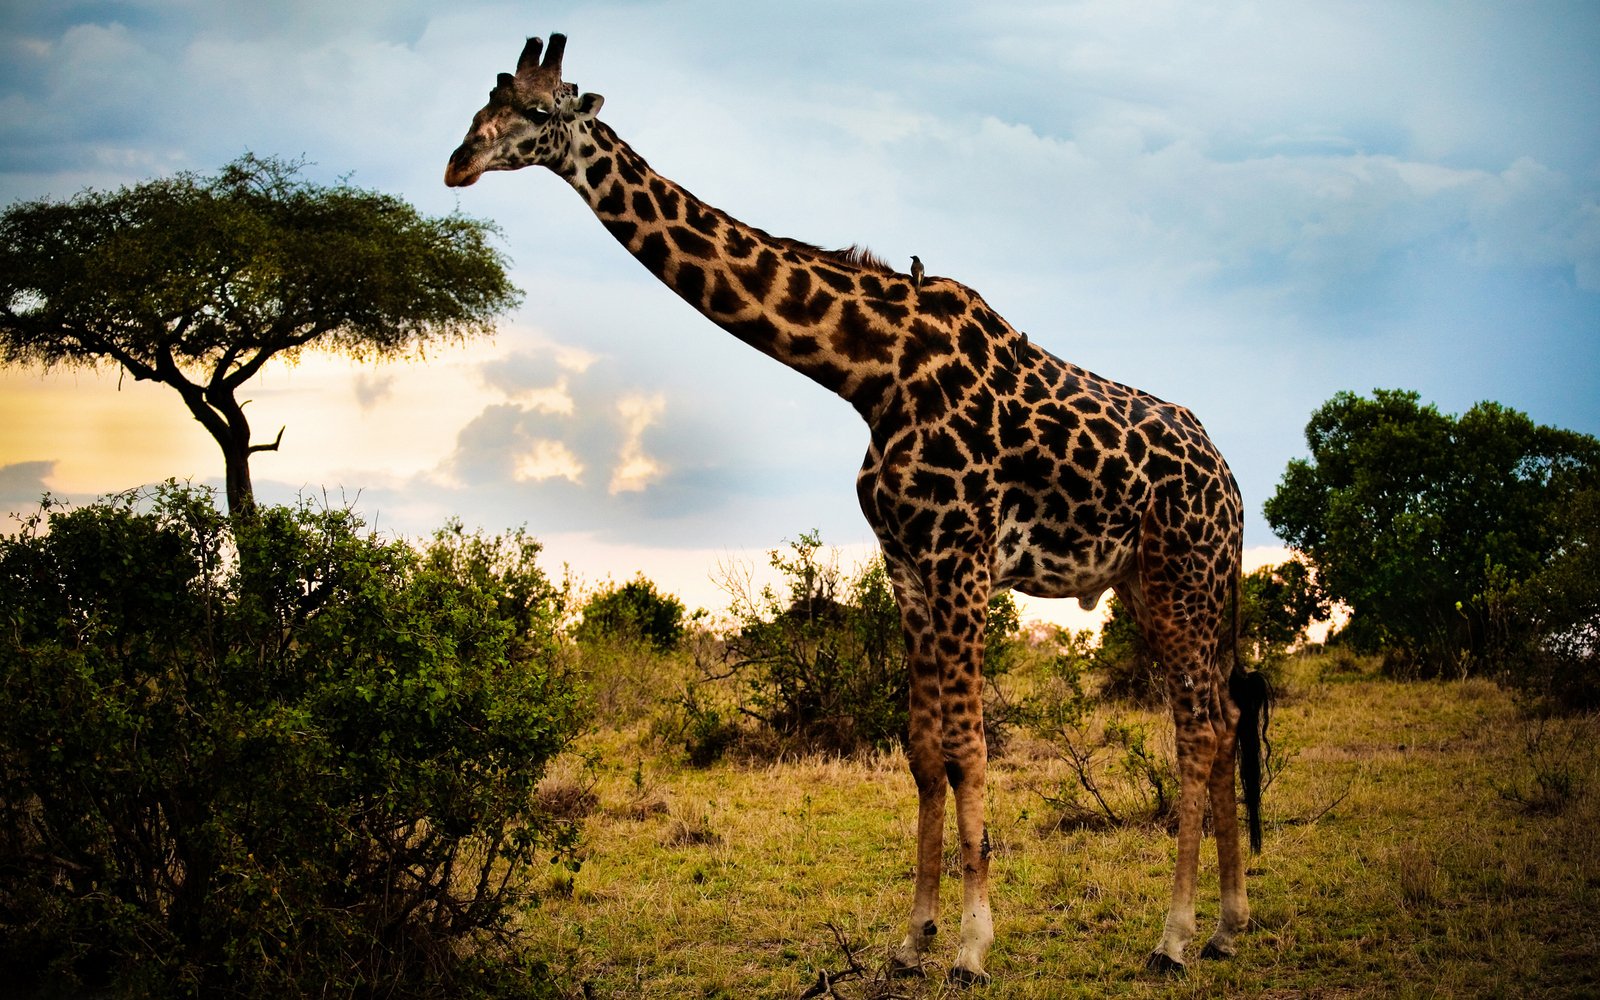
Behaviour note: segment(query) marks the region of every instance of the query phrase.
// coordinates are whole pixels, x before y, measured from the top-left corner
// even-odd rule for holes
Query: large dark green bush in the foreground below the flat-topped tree
[[[533,797],[579,723],[538,544],[256,514],[168,485],[0,539],[8,986],[538,989],[474,947],[574,848]]]

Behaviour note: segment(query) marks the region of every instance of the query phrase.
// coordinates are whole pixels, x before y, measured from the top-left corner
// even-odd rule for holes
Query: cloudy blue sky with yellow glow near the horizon
[[[768,232],[974,290],[1194,410],[1261,515],[1341,390],[1600,434],[1600,3],[0,0],[0,205],[245,154],[493,221],[525,291],[426,360],[254,382],[269,501],[421,538],[526,526],[547,570],[691,606],[818,530],[870,552],[854,411],[661,286],[554,174],[443,186],[526,35],[662,174]],[[0,509],[221,454],[176,394],[0,371]],[[738,576],[738,573],[734,573]],[[1074,621],[1064,602],[1029,603]]]

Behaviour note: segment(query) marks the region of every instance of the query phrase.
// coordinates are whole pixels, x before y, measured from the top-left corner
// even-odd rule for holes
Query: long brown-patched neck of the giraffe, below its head
[[[579,133],[563,176],[667,288],[762,354],[870,414],[893,387],[910,283],[854,251],[746,226],[658,174],[610,126]],[[870,418],[869,418],[870,419]]]

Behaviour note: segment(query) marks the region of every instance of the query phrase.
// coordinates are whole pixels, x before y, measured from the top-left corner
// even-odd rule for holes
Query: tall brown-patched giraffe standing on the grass
[[[926,974],[949,792],[962,858],[949,979],[989,981],[981,669],[989,598],[1002,587],[1083,606],[1114,590],[1131,608],[1165,670],[1181,774],[1171,906],[1146,965],[1184,968],[1206,800],[1221,918],[1203,955],[1234,955],[1250,917],[1235,757],[1258,848],[1266,691],[1238,662],[1242,499],[1200,421],[1053,357],[950,278],[774,237],[701,202],[600,122],[600,94],[562,78],[565,48],[560,34],[547,50],[528,38],[445,184],[555,171],[656,278],[867,424],[856,494],[901,611],[917,787],[915,888],[890,970]]]

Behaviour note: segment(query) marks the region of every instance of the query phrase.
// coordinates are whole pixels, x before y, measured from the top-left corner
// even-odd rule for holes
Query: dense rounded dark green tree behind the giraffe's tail
[[[1267,523],[1352,608],[1358,646],[1422,674],[1493,659],[1507,622],[1490,598],[1552,563],[1566,509],[1600,486],[1600,440],[1499,403],[1454,418],[1414,392],[1341,392],[1306,443]]]

